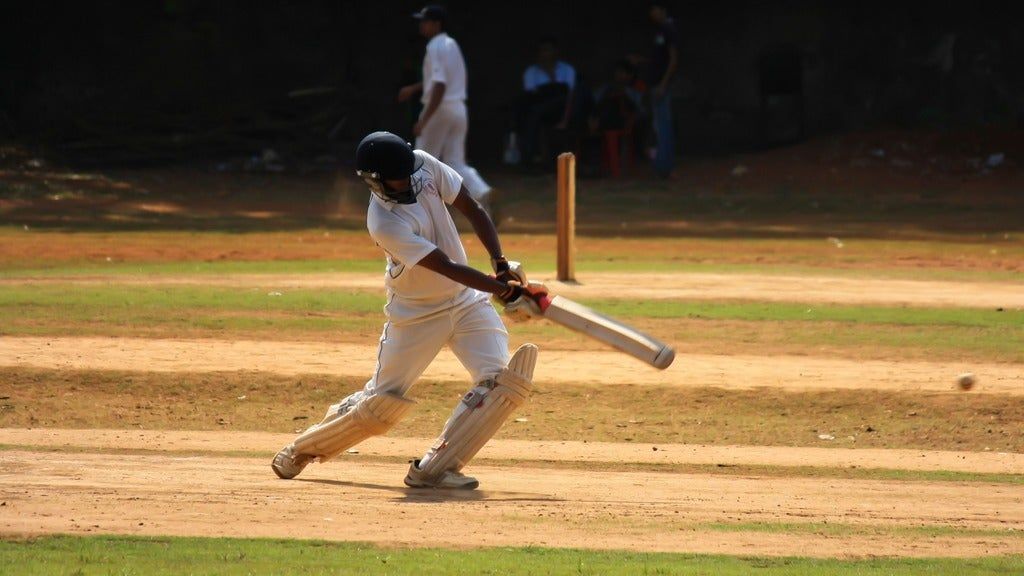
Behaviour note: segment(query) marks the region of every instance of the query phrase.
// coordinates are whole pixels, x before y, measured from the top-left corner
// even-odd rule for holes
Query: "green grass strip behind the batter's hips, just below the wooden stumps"
[[[582,299],[611,316],[649,319],[739,320],[746,322],[843,322],[897,326],[952,326],[1010,330],[1024,336],[1024,311],[881,306],[793,302]],[[380,313],[377,290],[181,286],[24,284],[0,290],[2,314],[45,315],[59,310],[71,319],[110,312],[114,318],[142,311],[244,311],[267,313]],[[125,317],[127,319],[127,317]]]

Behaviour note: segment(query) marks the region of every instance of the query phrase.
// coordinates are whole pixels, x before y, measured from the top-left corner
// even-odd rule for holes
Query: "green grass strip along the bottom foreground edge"
[[[1014,574],[1024,557],[818,560],[501,547],[387,548],[362,543],[230,538],[50,536],[0,540],[0,572],[77,574],[715,574],[901,576]]]

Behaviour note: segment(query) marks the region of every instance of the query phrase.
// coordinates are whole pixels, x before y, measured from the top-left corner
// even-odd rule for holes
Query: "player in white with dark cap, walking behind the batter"
[[[484,206],[489,204],[490,186],[466,163],[466,63],[459,43],[444,32],[446,11],[442,6],[426,6],[413,17],[420,22],[420,34],[428,40],[423,56],[423,80],[398,91],[398,101],[422,92],[423,112],[413,125],[416,148],[455,168],[466,190]]]

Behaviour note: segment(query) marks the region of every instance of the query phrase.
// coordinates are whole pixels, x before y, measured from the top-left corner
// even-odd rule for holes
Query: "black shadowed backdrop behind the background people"
[[[1019,2],[669,2],[687,154],[762,150],[869,128],[1016,131]],[[414,2],[8,3],[0,136],[83,162],[350,150],[411,136],[395,101],[424,42]],[[447,3],[469,67],[470,156],[500,158],[522,70],[545,35],[597,86],[645,55],[644,2]],[[315,88],[316,90],[309,90]],[[306,92],[296,92],[307,90]]]

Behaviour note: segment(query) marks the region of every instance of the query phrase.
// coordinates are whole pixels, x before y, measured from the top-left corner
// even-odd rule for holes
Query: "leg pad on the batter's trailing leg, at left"
[[[375,394],[302,433],[295,439],[295,454],[314,456],[326,462],[364,440],[380,436],[398,423],[412,400],[396,394]]]

